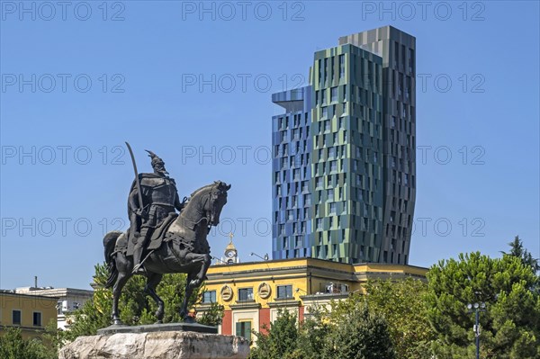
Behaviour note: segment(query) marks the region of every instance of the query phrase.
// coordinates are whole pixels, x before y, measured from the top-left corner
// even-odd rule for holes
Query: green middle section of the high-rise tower
[[[382,58],[346,44],[311,67],[312,256],[376,262],[383,230]]]

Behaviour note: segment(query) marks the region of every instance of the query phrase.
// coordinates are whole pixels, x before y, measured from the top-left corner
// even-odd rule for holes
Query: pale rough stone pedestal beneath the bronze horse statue
[[[150,331],[77,337],[60,349],[59,359],[246,359],[242,337],[192,331]]]

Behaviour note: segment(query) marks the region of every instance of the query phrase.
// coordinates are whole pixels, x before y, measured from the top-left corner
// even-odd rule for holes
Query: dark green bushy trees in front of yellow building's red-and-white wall
[[[267,333],[255,333],[252,359],[393,359],[386,320],[365,301],[333,301],[331,309],[311,309],[300,328],[294,314],[280,310]]]

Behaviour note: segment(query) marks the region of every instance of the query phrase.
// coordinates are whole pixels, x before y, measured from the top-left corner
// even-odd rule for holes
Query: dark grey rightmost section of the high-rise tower
[[[385,26],[339,43],[383,58],[383,241],[376,262],[406,265],[416,201],[416,38]]]

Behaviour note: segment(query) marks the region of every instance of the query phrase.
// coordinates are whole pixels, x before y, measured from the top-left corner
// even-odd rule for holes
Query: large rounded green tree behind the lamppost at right
[[[468,303],[485,302],[481,313],[482,357],[540,357],[538,277],[516,256],[490,258],[461,254],[433,265],[428,272],[428,320],[437,333],[439,359],[472,358],[474,314]]]

